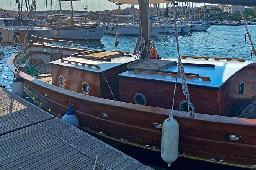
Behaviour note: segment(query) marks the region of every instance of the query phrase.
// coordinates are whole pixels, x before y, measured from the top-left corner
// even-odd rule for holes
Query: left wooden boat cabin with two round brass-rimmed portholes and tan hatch
[[[90,96],[119,100],[117,75],[127,71],[127,64],[134,61],[132,55],[105,50],[75,53],[50,62],[52,84]]]

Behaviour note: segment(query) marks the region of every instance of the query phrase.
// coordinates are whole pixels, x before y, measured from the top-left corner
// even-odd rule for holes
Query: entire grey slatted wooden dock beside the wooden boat
[[[0,169],[152,170],[0,88]]]

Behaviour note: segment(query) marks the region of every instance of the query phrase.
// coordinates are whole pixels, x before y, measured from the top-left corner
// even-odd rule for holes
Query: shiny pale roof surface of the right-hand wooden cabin
[[[177,58],[166,59],[171,61],[177,61]],[[197,74],[202,77],[209,77],[210,81],[202,81],[201,79],[187,79],[188,84],[201,85],[207,87],[219,88],[225,81],[230,79],[232,75],[241,70],[243,67],[249,66],[250,64],[255,64],[255,62],[239,62],[239,61],[225,61],[225,60],[204,60],[204,59],[181,59],[184,64],[185,73]],[[202,64],[204,66],[189,66],[189,64]],[[214,67],[208,67],[208,65]],[[171,66],[165,69],[163,72],[177,72],[177,66]],[[140,72],[135,74],[134,71],[126,71],[119,74],[119,77],[132,77],[148,80],[159,80],[164,82],[174,82],[176,78],[171,76],[161,76],[160,74],[150,75],[146,72]],[[178,83],[181,83],[181,79],[178,78]]]

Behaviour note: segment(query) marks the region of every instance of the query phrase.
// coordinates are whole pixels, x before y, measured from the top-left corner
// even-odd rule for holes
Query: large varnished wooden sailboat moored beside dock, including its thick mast
[[[169,2],[139,0],[143,30],[140,40],[148,42],[146,2]],[[240,0],[226,3],[256,5],[254,1]],[[184,161],[179,166],[199,160],[201,164],[214,163],[210,167],[255,169],[256,63],[236,58],[183,56],[186,78],[181,79],[177,75],[177,63],[182,67],[179,58],[148,59],[147,50],[144,48],[136,61],[137,53],[133,52],[30,44],[24,48],[25,55],[13,53],[7,66],[15,73],[21,58],[26,62],[42,60],[37,65],[42,76],[35,77],[22,68],[18,73],[26,93],[59,117],[72,107],[83,130],[116,147],[122,146],[119,149],[143,162],[168,168],[161,159],[161,146],[168,140],[161,138],[163,122],[171,113],[179,124],[176,154],[178,162]],[[46,71],[49,74],[45,75]],[[181,88],[184,80],[188,88]],[[190,100],[183,94],[188,89]]]

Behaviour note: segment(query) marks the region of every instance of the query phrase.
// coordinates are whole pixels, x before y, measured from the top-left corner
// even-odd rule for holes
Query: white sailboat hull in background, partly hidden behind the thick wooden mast
[[[140,35],[140,26],[137,24],[119,24],[118,26],[118,35]],[[116,34],[117,30],[117,24],[107,24],[106,27],[106,34]],[[152,32],[153,36],[157,36],[159,34],[159,31],[161,30],[161,27],[159,26],[152,26]],[[150,35],[152,35],[151,29],[150,29]]]

